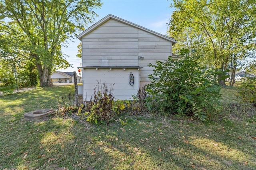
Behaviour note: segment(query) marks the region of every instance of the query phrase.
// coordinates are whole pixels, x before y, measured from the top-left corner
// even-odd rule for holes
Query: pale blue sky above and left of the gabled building
[[[167,23],[174,10],[174,8],[170,8],[172,0],[102,0],[102,2],[101,9],[94,10],[98,17],[95,18],[93,24],[108,14],[112,14],[164,35],[168,30]],[[77,71],[77,67],[80,66],[81,59],[75,57],[80,40],[73,41],[69,41],[69,47],[63,48],[62,51],[70,56],[66,59],[74,68],[69,67],[66,70],[59,69],[58,71]]]

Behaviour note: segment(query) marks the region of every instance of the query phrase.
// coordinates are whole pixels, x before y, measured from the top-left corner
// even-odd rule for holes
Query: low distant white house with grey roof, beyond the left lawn
[[[77,83],[82,82],[82,77],[77,77]],[[74,73],[73,72],[62,72],[62,71],[55,71],[51,75],[51,79],[53,83],[74,83]]]

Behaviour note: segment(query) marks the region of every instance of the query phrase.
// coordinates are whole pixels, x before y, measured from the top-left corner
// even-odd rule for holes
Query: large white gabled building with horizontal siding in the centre
[[[149,63],[172,56],[176,40],[138,26],[113,15],[82,32],[83,99],[88,101],[94,93],[96,81],[114,84],[116,99],[131,99],[138,88],[150,81],[153,73]],[[134,83],[132,81],[133,75]]]

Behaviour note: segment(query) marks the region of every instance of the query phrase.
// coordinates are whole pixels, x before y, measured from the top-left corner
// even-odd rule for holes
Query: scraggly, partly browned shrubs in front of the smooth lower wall
[[[138,94],[133,96],[134,100],[115,100],[113,90],[114,85],[107,87],[106,83],[97,82],[94,87],[94,96],[90,102],[86,103],[84,109],[82,109],[83,106],[79,108],[78,114],[82,115],[85,112],[87,121],[91,123],[109,123],[112,120],[119,120],[122,125],[125,125],[124,121],[118,119],[121,113],[138,115],[145,111],[145,88],[138,90]]]

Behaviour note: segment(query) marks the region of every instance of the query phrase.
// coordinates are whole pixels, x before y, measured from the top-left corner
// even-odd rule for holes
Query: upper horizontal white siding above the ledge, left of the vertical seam
[[[82,66],[138,66],[138,29],[109,20],[82,38]]]

